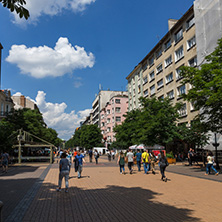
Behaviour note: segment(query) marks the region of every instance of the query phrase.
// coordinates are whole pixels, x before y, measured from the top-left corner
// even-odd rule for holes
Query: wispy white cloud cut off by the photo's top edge
[[[27,0],[25,8],[29,10],[30,18],[27,23],[36,23],[40,16],[55,16],[61,14],[64,10],[71,10],[74,13],[82,12],[86,7],[96,0]],[[24,24],[25,19],[20,19],[14,13],[14,22]]]

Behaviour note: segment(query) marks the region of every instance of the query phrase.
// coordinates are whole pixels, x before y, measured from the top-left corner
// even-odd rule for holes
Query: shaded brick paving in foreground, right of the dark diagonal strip
[[[55,191],[43,184],[23,221],[201,221],[192,210],[154,201],[161,195],[139,187],[108,186],[102,189],[69,188]]]

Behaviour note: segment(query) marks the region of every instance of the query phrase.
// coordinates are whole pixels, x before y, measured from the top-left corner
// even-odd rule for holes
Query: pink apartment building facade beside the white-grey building
[[[120,125],[124,120],[124,114],[128,110],[128,96],[126,95],[115,95],[110,98],[106,103],[106,106],[100,112],[101,126],[100,129],[103,134],[103,138],[108,144],[115,141],[115,133],[113,128],[116,125]]]

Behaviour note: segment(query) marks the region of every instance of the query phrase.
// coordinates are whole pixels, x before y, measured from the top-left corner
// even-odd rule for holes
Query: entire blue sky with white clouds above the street
[[[193,0],[27,0],[31,17],[0,6],[1,88],[33,99],[69,139],[98,93],[125,90],[127,75]]]

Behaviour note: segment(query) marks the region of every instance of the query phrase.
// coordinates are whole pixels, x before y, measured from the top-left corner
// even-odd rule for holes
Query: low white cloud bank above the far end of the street
[[[35,98],[36,104],[39,107],[40,112],[43,114],[44,121],[48,125],[57,131],[61,139],[69,139],[75,129],[79,127],[80,122],[91,112],[91,109],[85,109],[78,111],[73,110],[70,113],[66,113],[65,109],[67,105],[63,103],[50,103],[45,100],[46,93],[38,91]]]

